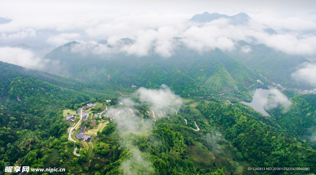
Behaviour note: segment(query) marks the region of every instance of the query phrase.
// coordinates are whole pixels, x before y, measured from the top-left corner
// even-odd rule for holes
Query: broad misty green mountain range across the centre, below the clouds
[[[264,80],[219,49],[200,54],[180,48],[170,58],[163,58],[156,54],[144,57],[122,53],[79,54],[71,51],[71,47],[76,44],[79,43],[70,42],[48,53],[45,58],[57,60],[59,64],[53,68],[46,67],[45,70],[88,84],[98,82],[95,86],[99,89],[116,87],[123,90],[132,85],[159,88],[161,84],[166,84],[182,96],[247,91],[250,85],[256,84],[257,79]]]

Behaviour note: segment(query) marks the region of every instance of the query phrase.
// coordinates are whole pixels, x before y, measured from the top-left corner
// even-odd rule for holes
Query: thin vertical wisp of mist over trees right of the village
[[[148,137],[149,131],[152,129],[153,121],[150,119],[142,119],[140,116],[131,115],[130,108],[135,104],[130,99],[121,99],[120,103],[128,105],[123,108],[110,109],[106,115],[113,117],[117,123],[117,129],[120,136],[120,145],[129,150],[128,157],[121,163],[123,174],[136,175],[142,172],[143,174],[154,173],[152,163],[145,157],[146,153],[141,153],[137,146],[133,145],[131,135],[141,135]],[[135,109],[131,109],[135,110]]]

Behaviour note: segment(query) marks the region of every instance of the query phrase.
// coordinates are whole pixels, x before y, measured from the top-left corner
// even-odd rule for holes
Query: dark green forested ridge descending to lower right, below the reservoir
[[[222,128],[225,138],[256,167],[315,166],[315,150],[296,141],[249,106],[210,102],[198,109],[209,123]]]

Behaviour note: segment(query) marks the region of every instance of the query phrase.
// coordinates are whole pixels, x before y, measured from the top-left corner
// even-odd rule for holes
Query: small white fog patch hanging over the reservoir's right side
[[[282,106],[284,110],[289,110],[289,107],[291,106],[291,101],[286,95],[284,95],[277,89],[271,89],[270,93],[271,94],[268,97],[268,102],[264,105],[264,109],[271,110]]]

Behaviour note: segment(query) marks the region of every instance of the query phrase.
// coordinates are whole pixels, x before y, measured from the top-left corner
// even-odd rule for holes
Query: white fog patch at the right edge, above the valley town
[[[316,64],[303,63],[299,69],[292,74],[292,77],[298,81],[316,87]]]

